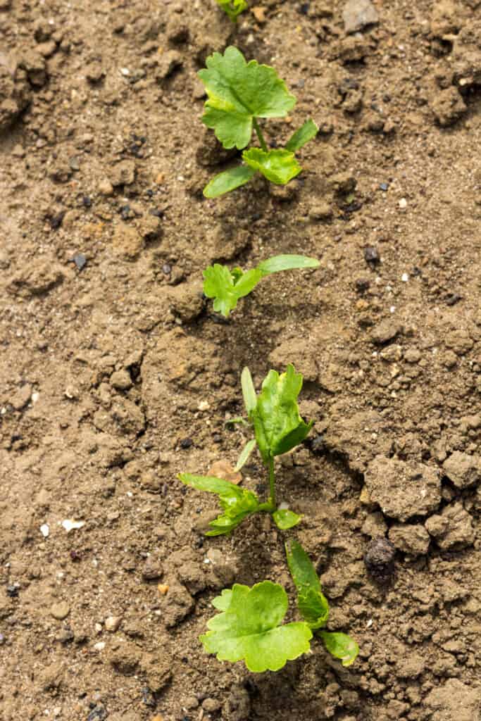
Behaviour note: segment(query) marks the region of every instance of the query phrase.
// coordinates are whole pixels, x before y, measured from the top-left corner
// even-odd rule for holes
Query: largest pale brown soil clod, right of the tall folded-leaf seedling
[[[438,470],[414,461],[376,456],[366,469],[364,482],[384,515],[398,521],[427,516],[441,501]]]

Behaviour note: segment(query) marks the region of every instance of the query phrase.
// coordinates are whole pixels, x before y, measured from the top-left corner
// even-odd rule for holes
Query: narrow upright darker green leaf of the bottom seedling
[[[312,629],[327,624],[329,603],[321,590],[321,583],[311,559],[297,541],[286,543],[286,556],[297,589],[297,606],[301,616]]]

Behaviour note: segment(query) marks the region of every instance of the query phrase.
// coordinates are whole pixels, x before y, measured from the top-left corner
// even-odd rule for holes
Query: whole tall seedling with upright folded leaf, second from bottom
[[[209,523],[208,536],[220,536],[234,530],[244,518],[252,513],[263,511],[272,514],[273,521],[285,531],[293,528],[301,516],[288,508],[278,508],[275,497],[275,456],[288,453],[304,441],[312,423],[306,423],[299,415],[297,397],[302,388],[301,373],[294,366],[287,366],[286,373],[269,371],[262,382],[262,390],[256,395],[249,368],[244,368],[241,376],[242,395],[247,410],[248,422],[254,430],[255,438],[248,441],[239,456],[236,470],[247,462],[257,446],[264,464],[269,482],[269,497],[261,502],[250,490],[213,476],[196,476],[181,473],[178,478],[185,485],[197,490],[215,493],[223,510],[218,518]]]

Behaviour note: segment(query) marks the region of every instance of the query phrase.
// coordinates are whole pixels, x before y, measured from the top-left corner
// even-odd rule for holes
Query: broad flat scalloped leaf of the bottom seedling
[[[228,594],[216,598],[214,606],[223,611],[208,622],[200,636],[207,653],[220,661],[243,660],[249,671],[278,671],[288,660],[309,651],[312,631],[308,624],[280,625],[288,608],[282,586],[262,581],[249,586],[234,584]]]

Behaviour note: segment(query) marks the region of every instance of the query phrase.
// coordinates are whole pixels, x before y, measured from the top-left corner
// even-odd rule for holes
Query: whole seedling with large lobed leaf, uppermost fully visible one
[[[235,190],[257,172],[276,185],[286,185],[301,172],[294,154],[317,135],[316,123],[306,120],[283,149],[269,150],[258,120],[285,118],[294,108],[296,98],[288,92],[286,83],[274,68],[255,60],[247,63],[240,50],[232,46],[224,55],[209,56],[206,66],[198,74],[208,94],[202,122],[213,128],[226,149],[244,150],[252,139],[252,130],[260,143],[260,148],[244,150],[242,165],[213,177],[204,188],[206,198],[218,198]]]

